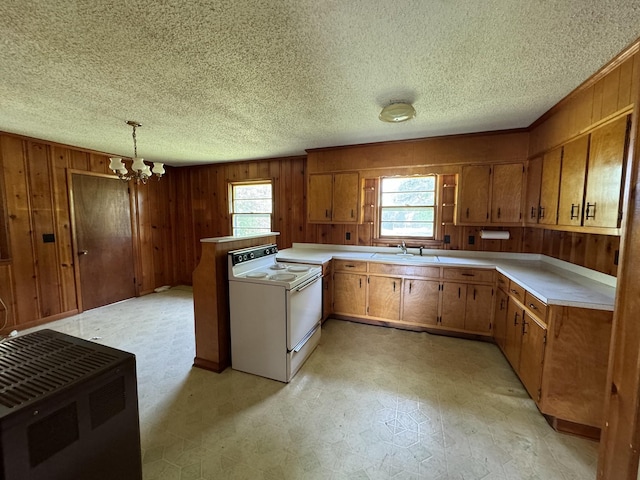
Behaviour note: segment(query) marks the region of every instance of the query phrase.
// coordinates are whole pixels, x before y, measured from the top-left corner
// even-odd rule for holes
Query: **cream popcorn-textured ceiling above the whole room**
[[[180,165],[527,127],[639,35],[638,0],[3,0],[0,130],[131,156],[137,120]]]

